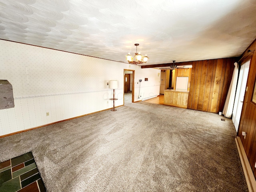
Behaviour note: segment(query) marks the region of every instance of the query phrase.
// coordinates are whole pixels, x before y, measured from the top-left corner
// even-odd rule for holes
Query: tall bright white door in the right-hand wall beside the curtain
[[[242,64],[239,72],[239,77],[238,77],[236,97],[235,97],[234,108],[232,113],[232,121],[236,128],[236,132],[238,131],[238,126],[239,126],[241,112],[242,112],[242,106],[244,102],[244,93],[246,90],[246,82],[247,82],[247,77],[249,72],[249,66],[250,66],[250,60],[245,64]]]

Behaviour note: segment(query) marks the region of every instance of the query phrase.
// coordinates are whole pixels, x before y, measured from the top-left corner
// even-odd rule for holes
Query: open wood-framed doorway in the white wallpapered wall
[[[124,103],[134,102],[134,70],[124,69]]]

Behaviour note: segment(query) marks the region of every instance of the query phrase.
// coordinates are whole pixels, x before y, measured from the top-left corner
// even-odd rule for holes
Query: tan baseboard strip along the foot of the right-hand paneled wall
[[[256,180],[254,174],[252,172],[252,168],[250,166],[249,160],[246,156],[246,152],[244,150],[244,146],[240,137],[236,137],[236,147],[238,149],[239,157],[241,160],[242,168],[244,170],[244,176],[246,179],[246,183],[248,186],[249,192],[256,192]]]

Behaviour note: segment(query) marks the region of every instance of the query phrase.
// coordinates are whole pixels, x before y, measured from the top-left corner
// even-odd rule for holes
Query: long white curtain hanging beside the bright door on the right
[[[228,95],[226,98],[226,102],[224,105],[224,109],[222,114],[224,114],[225,117],[231,118],[233,107],[234,107],[234,101],[235,101],[235,95],[236,95],[236,84],[237,84],[237,78],[238,78],[238,64],[237,62],[234,63],[235,68],[232,76],[232,80],[228,89]]]

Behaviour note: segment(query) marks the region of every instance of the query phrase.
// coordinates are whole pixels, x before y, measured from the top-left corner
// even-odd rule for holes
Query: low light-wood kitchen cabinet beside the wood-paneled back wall
[[[188,108],[188,93],[189,92],[165,90],[164,104],[175,107]]]

